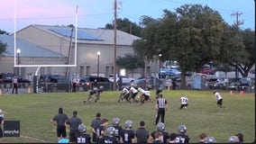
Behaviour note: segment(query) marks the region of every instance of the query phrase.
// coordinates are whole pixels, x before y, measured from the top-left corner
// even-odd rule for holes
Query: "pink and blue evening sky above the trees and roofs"
[[[240,28],[255,30],[254,0],[116,1],[117,18],[128,18],[137,24],[142,15],[158,19],[164,9],[175,12],[183,4],[202,4],[218,11],[230,25],[238,18],[243,23]],[[114,0],[1,0],[0,30],[14,33],[31,24],[76,25],[76,15],[79,28],[104,28],[106,23],[114,21]]]

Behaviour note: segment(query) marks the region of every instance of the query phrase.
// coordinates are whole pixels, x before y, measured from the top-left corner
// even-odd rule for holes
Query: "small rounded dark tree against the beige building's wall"
[[[116,59],[116,65],[119,68],[131,70],[133,76],[133,71],[136,68],[144,67],[144,61],[143,58],[137,55],[125,54],[124,57],[118,57]]]

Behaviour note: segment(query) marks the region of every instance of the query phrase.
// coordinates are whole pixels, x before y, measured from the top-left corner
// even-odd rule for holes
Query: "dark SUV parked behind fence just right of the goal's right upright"
[[[109,81],[107,77],[102,76],[82,76],[79,79],[79,86],[84,91],[88,91],[93,87],[103,86],[105,91],[112,90],[114,83]]]

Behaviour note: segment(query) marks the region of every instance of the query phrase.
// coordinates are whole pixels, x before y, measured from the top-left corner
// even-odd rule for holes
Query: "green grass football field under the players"
[[[119,117],[121,125],[124,121],[133,121],[133,130],[139,127],[140,121],[146,122],[146,129],[156,130],[155,121],[155,91],[151,91],[152,102],[143,105],[139,103],[117,103],[120,92],[104,92],[98,103],[84,104],[87,92],[58,94],[14,94],[0,95],[0,108],[7,114],[5,121],[21,122],[21,137],[2,138],[0,142],[57,142],[55,127],[50,125],[50,119],[63,107],[64,112],[71,117],[74,110],[78,117],[87,125],[95,119],[96,112],[102,113],[102,118],[112,124],[114,117]],[[205,132],[217,142],[227,142],[229,136],[238,132],[244,135],[244,142],[255,139],[255,94],[221,92],[227,110],[219,111],[212,91],[163,91],[168,100],[169,109],[166,113],[166,131],[176,132],[179,124],[187,126],[190,142],[197,142],[198,135]],[[181,94],[187,94],[187,110],[178,110]],[[69,130],[68,130],[69,131]]]

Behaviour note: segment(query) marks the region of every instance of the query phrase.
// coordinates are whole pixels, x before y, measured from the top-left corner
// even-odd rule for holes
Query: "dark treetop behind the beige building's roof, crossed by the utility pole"
[[[138,37],[141,37],[142,35],[141,34],[142,28],[138,24],[132,23],[127,18],[116,19],[116,24],[117,24],[117,27],[116,27],[117,30],[125,31]],[[105,24],[105,29],[114,29],[114,23]]]

